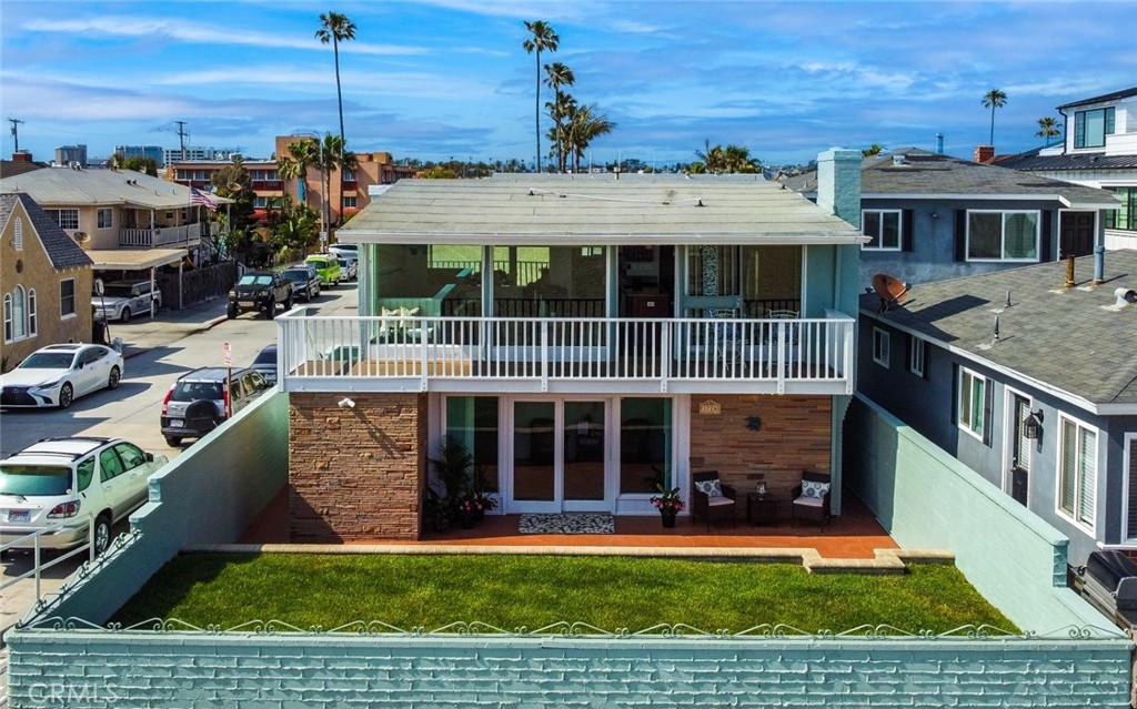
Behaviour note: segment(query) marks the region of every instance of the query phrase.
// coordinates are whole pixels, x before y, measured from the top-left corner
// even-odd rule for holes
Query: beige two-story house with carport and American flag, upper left
[[[206,207],[191,200],[189,187],[134,170],[51,167],[5,177],[0,192],[34,199],[107,278],[156,280],[166,266],[172,275],[160,284],[163,303],[180,308],[186,300],[184,260],[209,234]]]

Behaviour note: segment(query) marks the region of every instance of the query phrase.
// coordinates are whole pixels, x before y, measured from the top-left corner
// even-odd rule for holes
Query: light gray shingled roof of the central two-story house
[[[864,241],[855,227],[761,176],[683,175],[400,180],[339,237],[501,245]]]

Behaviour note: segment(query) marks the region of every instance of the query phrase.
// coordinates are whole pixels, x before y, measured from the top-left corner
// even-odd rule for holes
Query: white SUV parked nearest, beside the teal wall
[[[44,439],[0,460],[0,544],[35,532],[41,549],[86,541],[94,518],[94,552],[110,543],[110,527],[147,501],[147,481],[166,464],[123,439]],[[34,549],[35,540],[15,549]]]

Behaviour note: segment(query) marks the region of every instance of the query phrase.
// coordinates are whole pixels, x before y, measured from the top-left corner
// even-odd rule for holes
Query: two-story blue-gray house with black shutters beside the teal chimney
[[[816,173],[788,181],[811,199]],[[1120,207],[1096,187],[908,148],[864,160],[861,278],[957,278],[1086,256]]]

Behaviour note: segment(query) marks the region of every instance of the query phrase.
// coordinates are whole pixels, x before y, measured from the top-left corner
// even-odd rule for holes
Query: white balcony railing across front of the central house
[[[853,393],[854,320],[277,318],[285,391]]]

